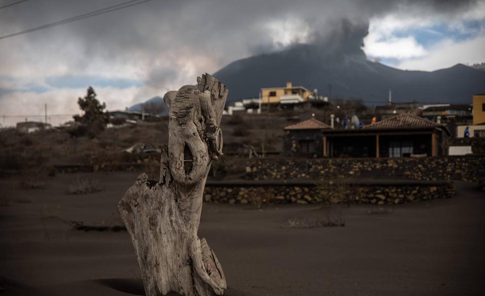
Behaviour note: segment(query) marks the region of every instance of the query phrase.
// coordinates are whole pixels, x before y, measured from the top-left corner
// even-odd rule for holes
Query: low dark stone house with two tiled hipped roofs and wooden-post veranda
[[[284,155],[315,157],[412,157],[446,154],[446,126],[399,114],[360,129],[332,129],[316,119],[284,128]]]

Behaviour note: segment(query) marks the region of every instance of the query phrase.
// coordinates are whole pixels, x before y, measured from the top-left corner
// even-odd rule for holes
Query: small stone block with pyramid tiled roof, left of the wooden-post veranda
[[[314,118],[284,128],[283,155],[322,157],[326,147],[324,131],[332,127]]]

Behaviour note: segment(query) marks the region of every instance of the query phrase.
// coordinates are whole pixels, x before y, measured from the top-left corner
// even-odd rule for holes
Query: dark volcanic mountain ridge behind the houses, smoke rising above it
[[[287,81],[319,90],[332,99],[362,99],[385,103],[392,90],[394,101],[468,103],[485,92],[485,72],[456,64],[435,71],[401,70],[366,59],[363,52],[322,52],[322,47],[300,44],[274,53],[234,61],[212,74],[229,88],[228,102],[257,98],[259,89],[284,87]]]

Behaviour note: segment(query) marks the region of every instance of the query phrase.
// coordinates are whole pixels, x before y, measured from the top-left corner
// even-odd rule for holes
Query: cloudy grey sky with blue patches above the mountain
[[[342,19],[368,27],[356,42],[387,66],[433,71],[485,62],[485,0],[151,0],[1,38],[126,1],[0,8],[0,124],[43,120],[44,104],[49,122],[66,122],[88,86],[109,110],[124,109],[235,60],[329,38]]]

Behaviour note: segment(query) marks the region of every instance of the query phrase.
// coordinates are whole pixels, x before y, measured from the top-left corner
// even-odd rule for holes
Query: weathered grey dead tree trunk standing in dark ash
[[[210,162],[222,155],[219,125],[228,89],[207,73],[197,82],[164,96],[169,145],[159,181],[142,173],[118,203],[147,296],[213,296],[227,288],[217,257],[197,230]]]

